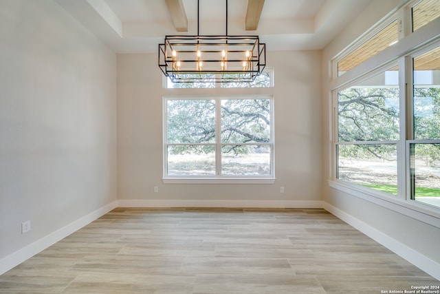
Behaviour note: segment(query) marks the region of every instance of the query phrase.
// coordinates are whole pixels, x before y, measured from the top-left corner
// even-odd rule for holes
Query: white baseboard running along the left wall
[[[113,201],[105,205],[104,207],[101,207],[100,209],[97,209],[96,211],[87,214],[87,216],[83,216],[82,218],[72,222],[71,224],[67,224],[67,226],[58,229],[57,231],[54,231],[49,235],[46,235],[40,240],[33,242],[32,244],[29,244],[28,246],[25,246],[18,251],[15,251],[5,258],[2,258],[0,260],[0,275],[14,268],[14,266],[21,264],[21,262],[32,258],[32,256],[36,255],[36,253],[43,251],[52,244],[55,244],[56,242],[67,237],[71,233],[74,233],[82,227],[85,227],[85,225],[93,222],[97,218],[100,218],[105,213],[108,213],[112,209],[115,209],[117,207],[117,204],[117,201]]]

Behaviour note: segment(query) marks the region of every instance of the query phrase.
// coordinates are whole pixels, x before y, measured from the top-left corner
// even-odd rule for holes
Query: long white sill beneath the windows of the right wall
[[[375,191],[368,191],[363,187],[356,187],[356,185],[342,182],[340,180],[329,180],[329,186],[338,189],[339,191],[349,193],[355,197],[380,205],[397,213],[404,214],[415,220],[426,222],[434,227],[440,228],[440,209],[431,207],[428,204],[423,204],[415,200],[403,200],[397,196],[382,196],[382,193],[375,193]]]

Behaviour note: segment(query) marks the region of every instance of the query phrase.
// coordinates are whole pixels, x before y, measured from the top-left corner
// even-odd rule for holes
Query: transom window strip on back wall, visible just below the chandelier
[[[188,74],[189,75],[189,74]],[[230,74],[233,75],[233,74]],[[243,88],[243,87],[273,87],[273,70],[265,68],[263,72],[256,76],[253,82],[230,82],[230,83],[215,83],[212,81],[213,74],[204,74],[206,79],[203,83],[173,83],[170,78],[166,78],[166,88],[214,88],[214,87],[228,87],[228,88]]]

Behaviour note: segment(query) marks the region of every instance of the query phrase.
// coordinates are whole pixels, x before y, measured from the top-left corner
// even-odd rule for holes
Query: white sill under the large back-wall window
[[[165,184],[274,184],[275,178],[162,178]]]

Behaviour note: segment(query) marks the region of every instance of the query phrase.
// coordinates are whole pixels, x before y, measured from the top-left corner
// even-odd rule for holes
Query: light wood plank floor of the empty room
[[[440,282],[322,209],[119,208],[0,276],[0,293],[381,293],[421,285]]]

